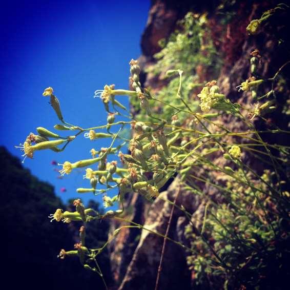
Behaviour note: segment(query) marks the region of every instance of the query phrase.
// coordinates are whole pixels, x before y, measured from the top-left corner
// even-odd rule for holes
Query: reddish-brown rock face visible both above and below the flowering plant
[[[262,63],[262,76],[274,75],[283,64],[282,61],[287,59],[285,57],[286,52],[284,54],[275,53],[278,40],[271,38],[267,32],[264,32],[259,37],[247,36],[245,33],[245,28],[251,19],[257,15],[260,16],[261,12],[273,6],[275,6],[274,2],[253,4],[245,1],[236,4],[236,17],[233,17],[233,20],[227,24],[226,33],[221,33],[220,19],[212,13],[217,7],[213,1],[203,1],[198,6],[193,4],[192,1],[152,1],[148,23],[141,39],[143,54],[139,58],[139,63],[144,68],[154,62],[153,55],[160,50],[158,41],[161,38],[168,38],[170,33],[178,28],[177,20],[181,19],[188,11],[208,12],[212,38],[217,51],[222,55],[223,61],[218,77],[218,85],[223,94],[233,102],[241,102],[242,99],[242,102],[250,103],[248,95],[246,93],[238,93],[236,89],[244,79],[250,76],[248,73],[250,53],[256,48],[261,53],[265,52]],[[158,76],[152,77],[151,75],[142,74],[140,79],[143,84],[149,85],[154,91],[158,91],[164,85],[164,82]],[[200,81],[205,79],[209,80],[209,76],[206,75],[206,71],[202,71]],[[280,128],[284,128],[287,121],[279,119],[279,110],[275,114],[272,121]],[[220,117],[219,121],[226,123],[226,126],[230,126],[229,129],[232,131],[242,129],[242,125],[231,116]],[[271,141],[270,137],[265,136],[265,138]],[[280,138],[285,138],[285,136],[281,135]],[[217,162],[219,162],[218,156]],[[259,168],[259,164],[254,164],[254,167]],[[125,208],[129,209],[127,210],[126,219],[143,224],[146,229],[164,235],[172,204],[164,202],[162,199],[168,199],[173,202],[177,194],[179,181],[179,177],[176,177],[169,188],[163,191],[160,194],[160,198],[153,203],[140,195],[128,194],[125,201]],[[211,189],[206,188],[205,190],[210,192]],[[210,194],[215,194],[215,192]],[[193,216],[198,216],[204,212],[204,202],[196,195],[183,189],[181,189],[176,204],[184,206],[190,213],[196,213]],[[186,244],[183,233],[184,227],[188,223],[189,221],[184,217],[184,214],[180,210],[174,209],[169,237],[176,242]],[[117,227],[126,224],[128,223],[114,221],[111,224],[111,233]],[[116,282],[115,289],[154,289],[162,244],[163,238],[149,231],[121,230],[109,247],[111,267]],[[171,241],[167,242],[159,289],[191,289],[193,277],[188,270],[186,257],[187,251],[184,248]]]

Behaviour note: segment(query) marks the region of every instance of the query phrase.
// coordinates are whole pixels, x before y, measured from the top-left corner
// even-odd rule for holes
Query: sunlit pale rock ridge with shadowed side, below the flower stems
[[[164,200],[174,201],[179,188],[180,179],[175,178],[167,191],[160,193],[148,212],[139,243],[128,267],[125,278],[119,289],[154,289],[156,273],[160,261],[163,238],[150,231],[165,235],[172,204]],[[178,206],[183,205],[190,212],[194,212],[200,201],[192,193],[180,192],[176,200]],[[169,237],[177,242],[183,242],[183,230],[188,221],[184,220],[181,210],[174,209],[171,221]],[[162,275],[160,277],[160,289],[189,289],[190,273],[185,261],[185,251],[172,241],[165,247]],[[182,279],[180,279],[182,277]],[[144,281],[146,278],[146,281]]]

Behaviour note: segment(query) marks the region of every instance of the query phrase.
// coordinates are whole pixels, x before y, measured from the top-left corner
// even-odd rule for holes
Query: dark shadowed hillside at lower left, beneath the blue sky
[[[31,175],[4,147],[0,147],[0,162],[1,276],[10,289],[102,289],[99,277],[85,271],[77,259],[57,259],[61,248],[73,248],[79,225],[50,222],[48,216],[57,208],[66,209],[52,185]],[[90,206],[98,209],[93,201]],[[107,239],[107,231],[106,222],[93,223],[88,227],[88,240],[98,245]],[[100,264],[110,280],[106,255]]]

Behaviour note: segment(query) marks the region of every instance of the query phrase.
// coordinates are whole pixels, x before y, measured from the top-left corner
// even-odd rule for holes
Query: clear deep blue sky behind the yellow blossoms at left
[[[1,135],[0,144],[20,157],[14,146],[36,127],[53,130],[60,123],[43,90],[53,87],[65,120],[83,128],[104,125],[107,113],[94,91],[106,84],[128,89],[129,61],[140,55],[140,37],[150,2],[142,1],[5,1],[0,11]],[[126,97],[119,97],[128,106]],[[60,132],[60,131],[59,131]],[[90,149],[108,147],[110,140],[82,136],[65,152],[37,151],[25,167],[48,181],[64,201],[101,197],[79,195],[89,187],[83,171],[63,179],[51,165],[90,158]],[[61,168],[58,168],[61,169]],[[3,170],[3,169],[2,169]],[[66,193],[60,189],[65,187]]]

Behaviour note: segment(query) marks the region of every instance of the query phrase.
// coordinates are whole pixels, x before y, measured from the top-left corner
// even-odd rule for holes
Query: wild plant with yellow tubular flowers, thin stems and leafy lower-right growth
[[[184,31],[175,33],[156,56],[159,61],[157,67],[152,68],[154,73],[158,73],[161,66],[170,65],[169,59],[176,50],[181,51],[181,58],[188,57],[188,47],[192,46],[197,52],[203,45],[205,48],[202,49],[209,49],[210,54],[215,53],[211,44],[201,44],[202,39],[196,39],[195,32],[201,31],[200,27],[205,21],[206,15],[190,13],[185,16],[182,22]],[[259,25],[263,21],[264,18]],[[251,23],[247,30],[254,33],[258,23]],[[188,33],[192,34],[192,39],[184,36]],[[56,209],[49,216],[51,221],[84,223],[80,229],[79,243],[75,244],[74,250],[61,250],[59,258],[78,257],[86,269],[99,274],[103,279],[97,256],[108,243],[123,228],[147,230],[143,225],[123,217],[123,212],[126,211],[122,202],[125,194],[137,192],[153,201],[160,198],[159,191],[163,185],[178,175],[180,194],[182,190],[187,190],[204,201],[200,211],[195,213],[186,211],[182,204],[171,202],[188,220],[185,236],[190,245],[181,244],[161,233],[151,231],[152,234],[161,236],[164,240],[170,239],[187,250],[188,265],[195,275],[196,284],[209,283],[210,277],[215,277],[218,285],[225,288],[237,283],[258,285],[264,275],[266,263],[271,259],[279,260],[283,255],[282,252],[275,251],[274,245],[289,240],[289,233],[285,229],[290,209],[284,174],[289,161],[289,148],[279,143],[266,143],[261,137],[264,131],[257,130],[254,123],[256,119],[266,122],[264,116],[276,110],[277,77],[290,61],[286,61],[273,77],[258,78],[260,57],[258,50],[248,55],[252,76],[237,88],[241,94],[251,92],[253,102],[259,101],[254,108],[247,107],[247,104],[233,103],[226,98],[216,80],[193,85],[194,76],[191,74],[195,72],[192,67],[198,65],[199,61],[206,61],[201,55],[193,58],[192,63],[189,62],[192,67],[177,67],[180,61],[176,61],[169,68],[167,75],[174,79],[163,92],[170,88],[170,101],[162,93],[160,97],[155,96],[141,85],[141,69],[138,61],[132,59],[131,90],[105,85],[103,90],[95,92],[95,97],[98,97],[96,101],[102,102],[104,110],[108,112],[108,118],[102,126],[82,128],[66,122],[60,111],[59,100],[53,95],[53,89],[45,89],[43,95],[51,98],[51,106],[61,122],[54,129],[69,132],[70,136],[62,137],[38,127],[39,135],[31,133],[20,146],[24,156],[32,158],[37,150],[61,152],[79,137],[90,140],[110,139],[107,148],[92,149],[91,158],[59,164],[62,167],[59,173],[64,175],[70,174],[75,168],[84,169],[88,187],[78,188],[76,192],[102,194],[105,208],[119,204],[119,210],[108,210],[105,214],[86,209],[80,199],[73,203],[74,212]],[[183,74],[185,84],[192,85],[187,85],[186,89],[183,86]],[[262,87],[262,84],[268,86]],[[268,90],[268,87],[271,89]],[[192,101],[192,93],[196,88],[198,94]],[[130,97],[139,113],[131,115],[116,96]],[[162,108],[160,114],[155,110],[158,106]],[[227,128],[226,124],[218,121],[222,115],[241,122],[244,130],[236,132]],[[119,116],[127,116],[128,121],[118,120]],[[127,124],[132,128],[130,140],[122,138],[120,134]],[[107,129],[107,133],[99,132],[100,129]],[[267,129],[266,133],[288,136],[290,132],[276,126],[274,130]],[[121,139],[122,143],[114,147],[116,139]],[[245,155],[261,160],[268,169],[260,175],[246,162]],[[115,160],[108,162],[109,156],[114,156]],[[105,189],[98,189],[98,184],[104,185]],[[118,194],[110,196],[112,189],[118,189]],[[210,191],[212,194],[209,194]],[[104,218],[126,221],[129,224],[115,230],[103,246],[87,248],[86,224]],[[106,285],[104,279],[103,282]]]

